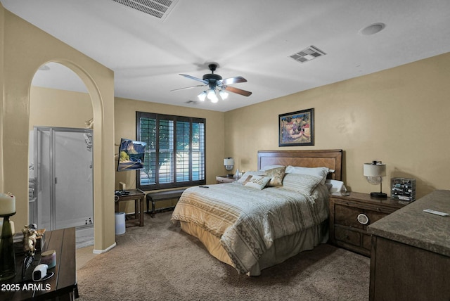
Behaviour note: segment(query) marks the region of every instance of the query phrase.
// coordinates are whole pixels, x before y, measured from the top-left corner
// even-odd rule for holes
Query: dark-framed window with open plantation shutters
[[[205,119],[136,112],[137,140],[147,143],[141,190],[206,183]]]

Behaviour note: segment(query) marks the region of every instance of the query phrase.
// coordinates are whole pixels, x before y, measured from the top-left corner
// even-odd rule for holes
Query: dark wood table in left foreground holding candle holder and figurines
[[[25,278],[22,278],[25,254],[22,248],[19,250],[15,254],[15,278],[0,282],[0,300],[75,300],[78,295],[75,228],[46,231],[44,246],[36,252]],[[40,263],[41,252],[46,250],[56,250],[56,267],[48,270],[54,275],[45,281],[34,282],[33,269]]]

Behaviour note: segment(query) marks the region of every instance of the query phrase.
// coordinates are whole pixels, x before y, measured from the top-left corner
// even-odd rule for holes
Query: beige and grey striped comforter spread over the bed
[[[281,238],[328,218],[328,189],[306,196],[284,188],[257,190],[237,182],[184,191],[172,222],[194,223],[220,238],[236,269],[247,273]]]

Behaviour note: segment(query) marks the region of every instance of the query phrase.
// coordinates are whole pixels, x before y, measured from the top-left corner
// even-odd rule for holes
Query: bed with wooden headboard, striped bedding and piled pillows
[[[328,241],[329,186],[297,169],[342,177],[342,150],[259,151],[257,159],[250,177],[186,189],[172,213],[211,255],[249,276]]]

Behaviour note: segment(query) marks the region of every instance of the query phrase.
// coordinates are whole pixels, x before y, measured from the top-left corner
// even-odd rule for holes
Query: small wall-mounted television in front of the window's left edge
[[[130,139],[120,139],[117,172],[143,169],[143,159],[147,143]]]

